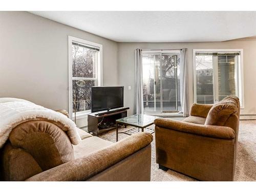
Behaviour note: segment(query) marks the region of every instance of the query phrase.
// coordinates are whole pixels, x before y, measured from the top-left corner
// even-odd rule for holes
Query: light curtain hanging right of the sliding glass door
[[[186,117],[186,115],[189,115],[187,48],[180,51],[180,103],[181,113],[183,117]]]

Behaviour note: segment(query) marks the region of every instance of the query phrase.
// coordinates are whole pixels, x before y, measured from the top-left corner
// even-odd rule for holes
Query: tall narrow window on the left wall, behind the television
[[[91,111],[91,88],[100,86],[102,45],[69,36],[69,114]]]

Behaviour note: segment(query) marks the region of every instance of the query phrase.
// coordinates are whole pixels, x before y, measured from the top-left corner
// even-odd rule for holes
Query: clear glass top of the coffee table
[[[158,117],[154,117],[151,115],[137,114],[137,115],[132,115],[132,116],[124,117],[121,119],[117,119],[116,122],[144,128],[149,125],[152,125],[156,118]]]

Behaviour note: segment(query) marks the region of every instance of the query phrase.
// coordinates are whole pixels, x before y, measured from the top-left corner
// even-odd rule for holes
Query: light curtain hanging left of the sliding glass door
[[[135,50],[135,106],[134,114],[143,114],[142,50]]]

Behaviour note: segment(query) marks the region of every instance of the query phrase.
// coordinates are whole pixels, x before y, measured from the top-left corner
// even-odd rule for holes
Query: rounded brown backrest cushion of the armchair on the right
[[[239,115],[239,98],[236,96],[228,96],[212,106],[206,117],[205,124],[228,126],[238,134]]]

